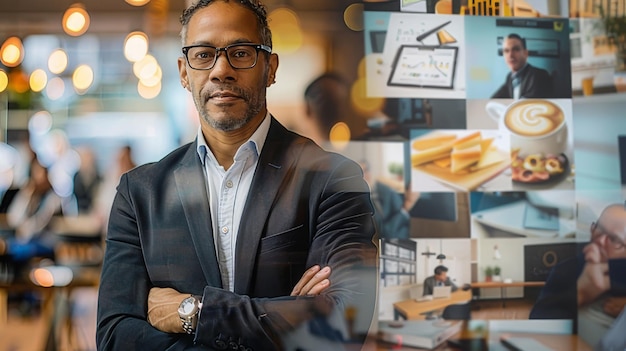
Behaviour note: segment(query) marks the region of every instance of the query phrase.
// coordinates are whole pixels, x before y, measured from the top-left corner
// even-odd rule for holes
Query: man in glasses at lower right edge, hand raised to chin
[[[607,206],[591,224],[591,239],[582,253],[553,267],[545,287],[530,313],[530,318],[576,319],[578,308],[600,297],[607,297],[604,309],[616,316],[623,309],[619,281],[611,281],[624,272],[610,271],[626,259],[626,208],[624,204]],[[617,270],[618,268],[614,268]],[[621,282],[623,284],[623,281]],[[616,305],[617,304],[617,305]],[[618,306],[621,305],[621,306]]]

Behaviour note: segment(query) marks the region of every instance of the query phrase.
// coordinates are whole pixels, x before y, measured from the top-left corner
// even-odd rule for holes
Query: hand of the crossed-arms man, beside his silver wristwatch
[[[148,294],[148,322],[165,333],[184,333],[178,316],[178,306],[189,297],[172,288],[150,289]]]

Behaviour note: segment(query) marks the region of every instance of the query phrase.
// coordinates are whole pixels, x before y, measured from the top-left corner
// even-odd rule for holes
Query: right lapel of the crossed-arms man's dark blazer
[[[261,152],[237,234],[235,255],[235,293],[249,294],[257,249],[272,204],[293,159],[291,134],[273,117]]]

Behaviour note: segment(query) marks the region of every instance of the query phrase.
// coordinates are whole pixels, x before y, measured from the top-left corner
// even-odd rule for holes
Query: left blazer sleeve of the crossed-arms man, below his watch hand
[[[152,285],[135,216],[128,177],[123,175],[109,219],[98,292],[98,350],[190,349],[194,347],[192,337],[162,333],[147,321],[148,292]]]

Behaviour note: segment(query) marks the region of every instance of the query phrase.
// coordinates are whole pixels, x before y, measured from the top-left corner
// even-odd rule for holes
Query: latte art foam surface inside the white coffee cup
[[[524,136],[541,136],[563,123],[563,111],[550,101],[523,101],[509,107],[505,124],[510,131]]]

